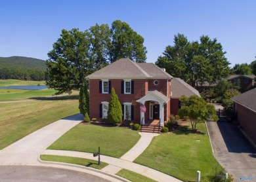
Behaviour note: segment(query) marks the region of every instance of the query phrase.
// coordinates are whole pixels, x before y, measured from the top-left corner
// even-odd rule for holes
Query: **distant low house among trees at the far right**
[[[233,84],[240,83],[243,90],[249,90],[255,85],[256,76],[255,75],[230,75],[228,81]]]

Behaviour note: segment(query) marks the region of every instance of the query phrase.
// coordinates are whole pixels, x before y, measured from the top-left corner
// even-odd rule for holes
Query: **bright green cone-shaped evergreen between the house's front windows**
[[[118,96],[115,89],[111,89],[110,103],[108,107],[108,122],[116,124],[121,122],[123,118],[123,111],[121,108],[121,103],[118,100]]]

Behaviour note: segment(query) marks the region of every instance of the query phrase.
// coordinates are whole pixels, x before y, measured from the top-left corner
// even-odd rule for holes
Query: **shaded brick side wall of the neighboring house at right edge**
[[[256,143],[256,113],[236,103],[238,112],[238,122],[243,127],[245,133]]]

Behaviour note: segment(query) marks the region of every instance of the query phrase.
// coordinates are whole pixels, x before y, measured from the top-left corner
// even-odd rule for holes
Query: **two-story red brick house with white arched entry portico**
[[[171,79],[152,63],[135,63],[122,58],[87,76],[90,90],[90,117],[107,118],[111,88],[114,87],[123,109],[124,120],[142,125],[170,116]],[[146,112],[140,109],[146,107]]]

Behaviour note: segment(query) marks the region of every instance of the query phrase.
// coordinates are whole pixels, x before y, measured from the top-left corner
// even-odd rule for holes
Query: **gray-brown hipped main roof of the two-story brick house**
[[[171,79],[172,76],[152,63],[135,63],[128,58],[121,58],[116,62],[95,71],[87,79]]]

